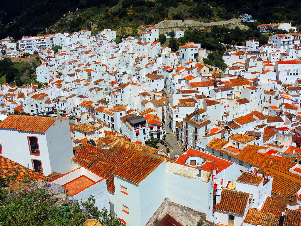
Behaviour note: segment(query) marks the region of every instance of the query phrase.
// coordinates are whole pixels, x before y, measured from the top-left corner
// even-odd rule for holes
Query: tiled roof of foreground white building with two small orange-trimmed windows
[[[163,158],[137,153],[124,163],[122,167],[115,169],[113,174],[132,183],[139,184],[163,162]]]

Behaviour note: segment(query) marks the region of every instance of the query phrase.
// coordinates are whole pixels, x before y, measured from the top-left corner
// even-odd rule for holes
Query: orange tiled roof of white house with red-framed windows
[[[16,129],[18,131],[45,133],[55,121],[56,118],[50,117],[8,115],[8,117],[0,123],[0,129]]]

